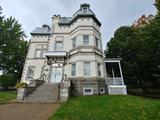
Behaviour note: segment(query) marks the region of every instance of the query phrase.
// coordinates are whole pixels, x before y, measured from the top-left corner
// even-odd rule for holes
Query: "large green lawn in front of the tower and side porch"
[[[49,120],[160,120],[160,100],[130,95],[74,97]]]

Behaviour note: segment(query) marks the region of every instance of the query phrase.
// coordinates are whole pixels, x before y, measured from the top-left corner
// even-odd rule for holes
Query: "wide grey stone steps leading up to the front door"
[[[58,84],[39,86],[33,93],[25,97],[24,102],[54,103],[58,101]]]

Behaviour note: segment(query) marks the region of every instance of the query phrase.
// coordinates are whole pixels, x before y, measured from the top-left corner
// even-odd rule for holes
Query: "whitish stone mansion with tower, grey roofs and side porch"
[[[86,3],[72,17],[54,15],[52,26],[31,32],[21,81],[43,76],[44,84],[70,81],[73,95],[126,94],[120,60],[103,57],[100,27]]]

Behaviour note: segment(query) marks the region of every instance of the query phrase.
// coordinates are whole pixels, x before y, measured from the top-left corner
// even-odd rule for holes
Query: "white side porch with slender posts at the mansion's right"
[[[127,94],[126,85],[123,81],[120,60],[121,59],[112,58],[105,61],[109,94]]]

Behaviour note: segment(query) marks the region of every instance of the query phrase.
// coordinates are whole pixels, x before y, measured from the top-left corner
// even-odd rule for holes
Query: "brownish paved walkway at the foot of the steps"
[[[0,105],[0,120],[48,120],[59,106],[59,104],[4,104]]]

